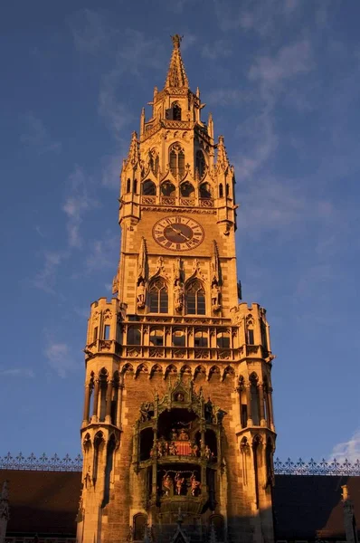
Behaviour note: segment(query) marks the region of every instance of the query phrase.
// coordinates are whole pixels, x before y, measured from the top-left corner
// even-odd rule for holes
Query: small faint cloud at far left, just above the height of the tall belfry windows
[[[32,111],[22,117],[22,124],[20,140],[25,146],[36,148],[39,155],[48,152],[59,153],[62,150],[62,144],[52,139],[43,120],[36,117]]]

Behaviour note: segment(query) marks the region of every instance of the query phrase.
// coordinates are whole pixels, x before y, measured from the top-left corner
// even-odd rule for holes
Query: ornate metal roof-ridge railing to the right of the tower
[[[336,458],[331,462],[323,459],[315,462],[312,458],[304,462],[301,458],[292,462],[290,458],[281,462],[279,458],[274,460],[274,472],[276,475],[360,475],[360,460],[355,462],[338,462]]]

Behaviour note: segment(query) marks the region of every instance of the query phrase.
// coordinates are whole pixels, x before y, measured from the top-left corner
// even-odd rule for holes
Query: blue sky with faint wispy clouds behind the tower
[[[235,166],[243,297],[268,310],[276,454],[360,456],[360,4],[38,0],[1,15],[0,454],[80,450],[119,168],[181,33]]]

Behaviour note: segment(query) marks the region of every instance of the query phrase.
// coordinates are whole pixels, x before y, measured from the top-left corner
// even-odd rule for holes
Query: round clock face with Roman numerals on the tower
[[[165,217],[153,226],[153,237],[170,251],[188,251],[204,241],[203,226],[179,215]]]

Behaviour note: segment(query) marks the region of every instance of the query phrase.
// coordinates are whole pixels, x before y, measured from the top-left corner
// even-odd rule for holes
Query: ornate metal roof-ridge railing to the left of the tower
[[[0,456],[0,470],[33,470],[38,472],[81,472],[82,456],[78,454],[71,458],[66,454],[63,458],[56,453],[53,456],[47,456],[44,452],[41,456],[35,456],[33,452],[30,456],[24,456],[19,452],[13,456],[10,452],[5,456]]]

